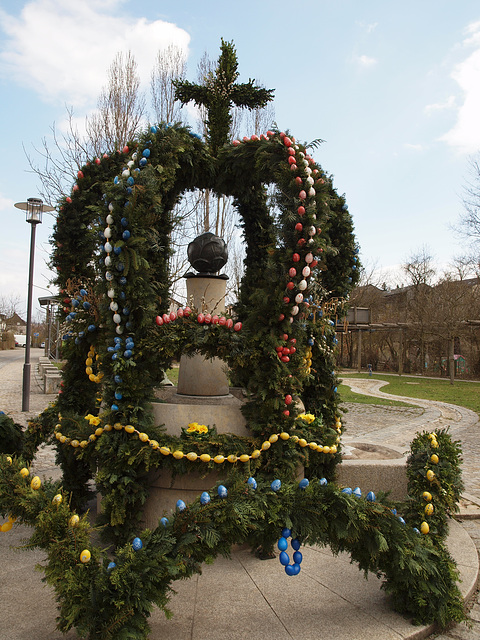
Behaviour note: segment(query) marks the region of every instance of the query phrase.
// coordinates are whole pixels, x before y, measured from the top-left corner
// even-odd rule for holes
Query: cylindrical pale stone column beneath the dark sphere
[[[226,278],[221,276],[188,275],[188,304],[202,313],[223,313],[226,283]],[[226,396],[228,393],[226,364],[220,358],[182,355],[177,394],[208,397]]]

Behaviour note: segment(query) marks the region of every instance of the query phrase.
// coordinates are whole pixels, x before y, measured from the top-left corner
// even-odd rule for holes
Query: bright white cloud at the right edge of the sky
[[[470,154],[480,149],[480,22],[470,24],[466,34],[463,44],[475,50],[451,74],[462,91],[463,102],[455,125],[440,140],[460,153]]]

